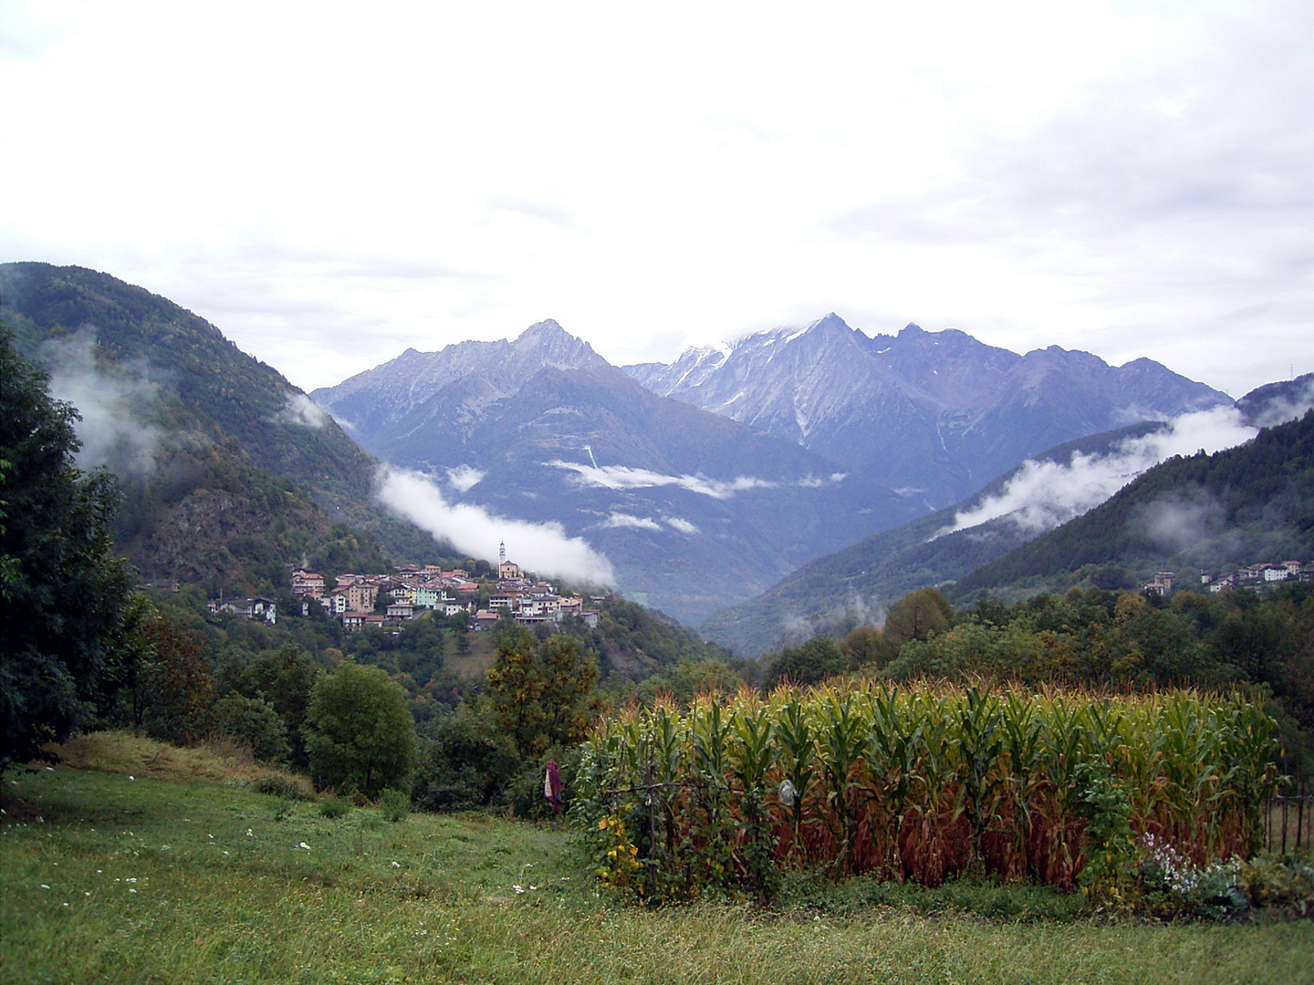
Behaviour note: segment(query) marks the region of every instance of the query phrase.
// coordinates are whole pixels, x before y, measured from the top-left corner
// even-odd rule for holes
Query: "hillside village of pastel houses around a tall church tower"
[[[551,582],[526,578],[519,565],[507,561],[506,544],[499,549],[495,583],[480,582],[461,569],[402,565],[389,575],[338,575],[330,590],[323,575],[297,569],[292,594],[301,599],[302,613],[318,602],[344,629],[397,625],[423,609],[442,616],[464,613],[473,617],[474,629],[493,628],[503,612],[527,625],[577,616],[595,629],[599,620],[598,609],[589,608],[581,596],[561,595]],[[392,599],[384,612],[374,611],[380,595]]]

